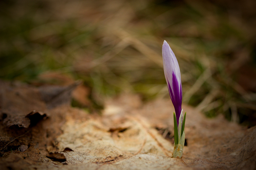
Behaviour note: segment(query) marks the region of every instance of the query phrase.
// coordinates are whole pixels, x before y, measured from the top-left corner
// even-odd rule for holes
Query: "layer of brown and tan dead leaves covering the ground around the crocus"
[[[255,169],[256,129],[187,112],[183,159],[171,158],[174,108],[122,94],[102,114],[71,107],[79,82],[33,86],[1,81],[2,169]],[[79,94],[79,93],[76,93]],[[84,93],[83,93],[84,94]]]

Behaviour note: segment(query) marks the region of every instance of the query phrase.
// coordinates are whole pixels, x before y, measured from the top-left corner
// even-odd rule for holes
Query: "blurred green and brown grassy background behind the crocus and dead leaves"
[[[166,40],[180,65],[183,103],[251,127],[255,9],[253,0],[2,0],[0,79],[38,86],[81,80],[98,108],[122,93],[144,102],[169,98]]]

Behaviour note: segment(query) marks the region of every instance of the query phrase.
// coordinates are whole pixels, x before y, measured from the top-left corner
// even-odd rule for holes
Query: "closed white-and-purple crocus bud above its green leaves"
[[[174,53],[172,52],[172,49],[165,40],[162,48],[162,54],[164,63],[164,76],[168,86],[172,104],[175,109],[177,125],[179,126],[182,103],[180,67]]]

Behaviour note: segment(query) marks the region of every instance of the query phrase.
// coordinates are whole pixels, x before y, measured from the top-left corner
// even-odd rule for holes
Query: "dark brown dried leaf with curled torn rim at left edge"
[[[36,113],[46,116],[45,103],[33,86],[0,81],[0,101],[0,112],[5,115],[4,123],[8,127],[18,125],[28,128],[30,116]]]

